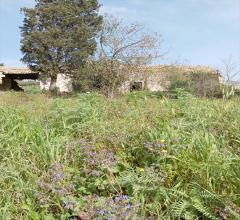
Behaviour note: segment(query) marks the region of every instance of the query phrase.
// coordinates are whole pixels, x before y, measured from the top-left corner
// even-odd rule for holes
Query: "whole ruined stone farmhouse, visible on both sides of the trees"
[[[174,77],[188,78],[195,73],[203,73],[208,80],[211,79],[211,83],[220,84],[224,81],[218,70],[206,66],[146,66],[141,68],[138,73],[130,74],[119,90],[123,93],[133,90],[166,91]],[[0,67],[0,90],[21,91],[17,81],[26,79],[38,80],[39,74],[28,68]],[[42,90],[49,89],[50,80],[47,79],[44,82],[39,80],[39,82]],[[60,92],[71,92],[73,90],[71,78],[64,74],[58,74],[56,87]]]

